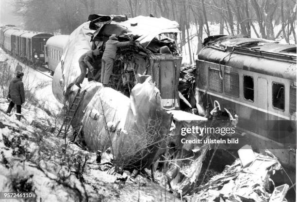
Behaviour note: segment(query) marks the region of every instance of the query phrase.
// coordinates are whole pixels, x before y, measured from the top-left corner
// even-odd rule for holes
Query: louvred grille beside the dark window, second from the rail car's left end
[[[239,75],[237,73],[225,71],[224,89],[226,94],[239,97]]]

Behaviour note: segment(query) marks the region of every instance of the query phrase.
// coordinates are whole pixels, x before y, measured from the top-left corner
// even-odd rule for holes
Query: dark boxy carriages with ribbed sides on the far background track
[[[53,35],[46,32],[25,31],[8,25],[0,30],[0,47],[9,54],[29,64],[44,64],[48,39]]]

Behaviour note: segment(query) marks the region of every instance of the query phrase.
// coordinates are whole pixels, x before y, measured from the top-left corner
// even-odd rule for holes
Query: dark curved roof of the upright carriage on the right
[[[296,81],[296,45],[236,38],[204,47],[199,60]]]

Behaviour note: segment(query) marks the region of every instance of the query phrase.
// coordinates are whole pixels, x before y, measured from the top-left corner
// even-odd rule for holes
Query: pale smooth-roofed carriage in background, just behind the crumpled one
[[[56,35],[48,39],[44,46],[45,64],[47,65],[51,75],[61,61],[63,47],[67,44],[69,35]]]

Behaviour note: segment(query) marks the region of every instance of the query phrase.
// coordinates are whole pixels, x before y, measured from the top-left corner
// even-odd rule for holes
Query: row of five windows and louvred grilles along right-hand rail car
[[[223,80],[221,79],[219,70],[209,68],[209,89],[218,93],[223,93]],[[233,97],[239,97],[239,75],[233,72],[225,72],[224,74],[224,91]],[[272,106],[276,109],[284,110],[284,85],[281,83],[272,83]],[[244,99],[254,101],[254,80],[252,77],[243,75],[243,97]],[[296,112],[296,87],[290,88],[290,113]]]

